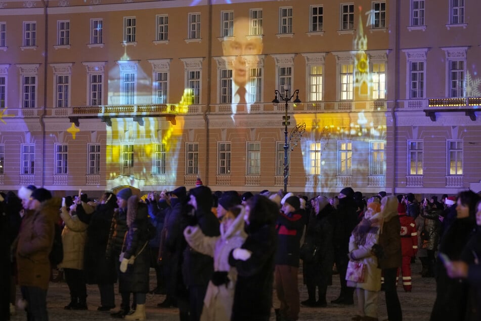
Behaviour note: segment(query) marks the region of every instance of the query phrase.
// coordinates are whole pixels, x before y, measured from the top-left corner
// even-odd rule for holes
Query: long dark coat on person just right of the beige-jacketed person
[[[100,204],[91,215],[85,244],[85,277],[88,284],[112,284],[117,282],[115,259],[106,256],[109,229],[114,208]]]

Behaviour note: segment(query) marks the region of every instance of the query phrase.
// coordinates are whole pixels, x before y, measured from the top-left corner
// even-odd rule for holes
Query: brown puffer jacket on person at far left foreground
[[[16,252],[19,286],[49,288],[49,254],[54,243],[60,205],[61,199],[54,197],[42,202],[36,211],[26,211]]]

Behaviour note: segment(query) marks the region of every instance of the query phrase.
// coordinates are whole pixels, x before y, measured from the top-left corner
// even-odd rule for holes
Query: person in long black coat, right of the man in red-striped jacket
[[[313,251],[317,249],[313,260],[302,262],[304,284],[308,288],[309,298],[301,304],[309,307],[327,306],[327,286],[332,284],[332,265],[334,264],[334,209],[329,199],[318,196],[313,199],[314,208],[305,230],[303,247]],[[312,253],[312,252],[311,252]],[[316,301],[316,288],[319,300]]]

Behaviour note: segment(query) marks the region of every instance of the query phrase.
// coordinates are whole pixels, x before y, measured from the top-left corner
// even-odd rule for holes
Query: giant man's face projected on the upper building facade
[[[249,19],[239,18],[234,22],[234,37],[222,43],[224,56],[235,56],[234,83],[245,87],[249,78],[246,62],[243,55],[260,55],[263,50],[262,40],[259,38],[248,39]]]

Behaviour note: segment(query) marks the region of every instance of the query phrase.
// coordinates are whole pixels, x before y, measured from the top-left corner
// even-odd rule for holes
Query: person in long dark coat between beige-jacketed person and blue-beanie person
[[[117,208],[117,197],[106,192],[100,204],[90,216],[85,243],[85,280],[87,284],[96,284],[100,291],[99,311],[109,311],[115,307],[114,284],[117,282],[117,269],[112,256],[106,256],[107,242],[112,218]],[[81,211],[77,216],[82,220]],[[117,260],[118,261],[118,260]]]

